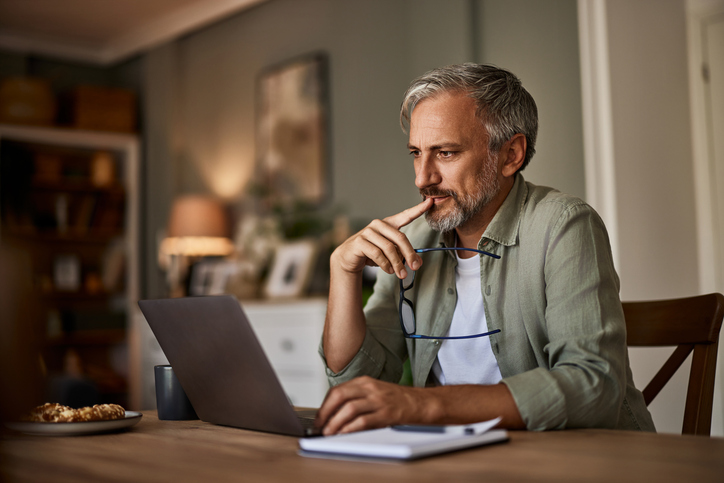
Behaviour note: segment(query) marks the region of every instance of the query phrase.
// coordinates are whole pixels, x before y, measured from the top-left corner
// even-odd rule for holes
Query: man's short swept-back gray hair
[[[473,63],[449,65],[418,77],[405,92],[400,107],[402,130],[407,132],[418,102],[450,91],[465,92],[475,99],[476,115],[488,131],[491,153],[498,153],[515,134],[525,136],[528,149],[520,170],[525,169],[535,154],[538,108],[520,79],[499,67]]]

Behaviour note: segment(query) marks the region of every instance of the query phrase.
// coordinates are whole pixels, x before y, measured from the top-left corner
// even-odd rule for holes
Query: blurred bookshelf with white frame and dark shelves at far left
[[[31,256],[48,380],[82,379],[125,407],[138,385],[138,171],[134,135],[0,124],[0,242]]]

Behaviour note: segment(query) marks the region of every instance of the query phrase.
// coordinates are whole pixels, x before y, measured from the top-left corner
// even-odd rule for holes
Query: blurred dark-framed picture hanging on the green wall
[[[327,56],[262,72],[257,85],[257,183],[272,204],[318,204],[329,195]]]

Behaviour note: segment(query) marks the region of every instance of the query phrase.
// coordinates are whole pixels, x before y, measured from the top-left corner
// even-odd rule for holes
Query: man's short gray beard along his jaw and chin
[[[500,183],[496,177],[496,158],[497,156],[488,158],[486,169],[477,177],[475,192],[460,196],[454,191],[445,191],[445,194],[452,197],[454,203],[452,211],[442,214],[433,206],[425,213],[425,220],[430,228],[438,232],[454,230],[470,221],[497,196],[500,192]]]

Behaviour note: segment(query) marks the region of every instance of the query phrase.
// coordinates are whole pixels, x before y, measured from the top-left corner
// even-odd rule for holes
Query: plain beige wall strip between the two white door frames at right
[[[695,295],[684,2],[609,0],[607,13],[622,296]]]

